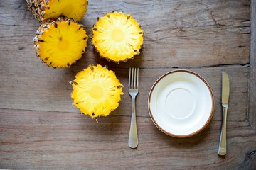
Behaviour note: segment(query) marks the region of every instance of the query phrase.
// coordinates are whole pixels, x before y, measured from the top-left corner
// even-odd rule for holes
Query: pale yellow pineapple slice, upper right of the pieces
[[[107,13],[92,28],[92,43],[101,57],[126,62],[139,54],[144,32],[137,21],[122,12]]]

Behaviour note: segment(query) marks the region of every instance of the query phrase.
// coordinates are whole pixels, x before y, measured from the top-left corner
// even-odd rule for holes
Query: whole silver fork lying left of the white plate
[[[129,130],[129,147],[135,149],[138,146],[136,125],[135,98],[139,93],[139,68],[129,68],[128,91],[132,98],[132,119]]]

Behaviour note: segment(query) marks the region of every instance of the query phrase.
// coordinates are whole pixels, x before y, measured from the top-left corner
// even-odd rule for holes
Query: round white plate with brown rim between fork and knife
[[[148,107],[159,130],[173,137],[190,137],[210,122],[214,109],[213,92],[195,72],[175,70],[154,83]]]

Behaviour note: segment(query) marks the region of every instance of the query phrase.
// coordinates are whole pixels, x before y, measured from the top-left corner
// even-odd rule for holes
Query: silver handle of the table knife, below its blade
[[[223,104],[223,121],[220,132],[220,143],[218,147],[218,154],[224,156],[227,152],[226,149],[226,124],[227,124],[227,113],[228,113],[228,105]]]

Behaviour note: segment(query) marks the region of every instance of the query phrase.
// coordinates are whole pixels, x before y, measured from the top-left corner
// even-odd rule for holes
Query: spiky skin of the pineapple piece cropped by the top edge
[[[45,18],[45,13],[46,13],[46,10],[48,10],[50,8],[50,3],[53,2],[53,1],[62,1],[62,0],[26,0],[26,2],[28,4],[28,9],[33,13],[33,15],[41,23],[50,19],[50,18]],[[77,16],[68,17],[68,16],[65,16],[65,15],[61,14],[61,15],[56,16],[54,18],[58,18],[60,16],[65,16],[65,17],[68,17],[68,18],[73,18],[75,21],[80,22],[82,20],[82,17],[84,16],[84,14],[87,11],[87,5],[88,5],[87,0],[81,0],[81,1],[85,1],[85,5],[83,6],[83,8],[85,8],[85,10],[82,11],[82,13],[80,13],[80,16],[78,16],[78,17]]]

